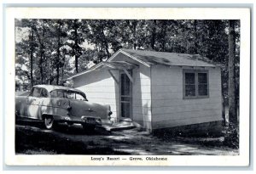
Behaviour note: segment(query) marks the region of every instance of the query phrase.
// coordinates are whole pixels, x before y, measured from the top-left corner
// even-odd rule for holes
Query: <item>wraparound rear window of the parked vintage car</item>
[[[55,89],[49,94],[51,98],[70,98],[70,99],[87,101],[84,93],[80,93],[72,90]]]

